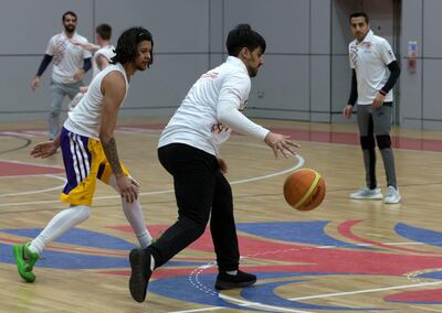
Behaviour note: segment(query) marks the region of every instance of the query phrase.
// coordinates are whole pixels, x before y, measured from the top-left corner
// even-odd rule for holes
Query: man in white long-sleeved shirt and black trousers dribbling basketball
[[[215,289],[244,288],[256,281],[254,274],[239,269],[232,191],[219,148],[232,129],[264,141],[275,156],[287,158],[298,145],[242,115],[250,77],[256,76],[263,64],[264,39],[242,24],[229,33],[227,47],[225,63],[193,84],[159,139],[158,158],[173,176],[179,218],[156,242],[130,251],[129,290],[138,302],[146,298],[154,269],[200,237],[209,218],[219,271]]]

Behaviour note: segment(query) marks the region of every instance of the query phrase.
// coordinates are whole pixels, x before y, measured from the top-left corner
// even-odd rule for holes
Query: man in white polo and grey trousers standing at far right
[[[392,88],[398,80],[400,68],[388,41],[375,35],[370,30],[366,13],[352,13],[350,26],[355,36],[349,44],[352,68],[351,93],[343,114],[345,118],[349,119],[352,108],[357,104],[360,145],[366,170],[366,186],[350,194],[350,198],[382,198],[376,180],[376,139],[387,176],[387,194],[383,202],[396,204],[401,201],[401,195],[396,180],[390,127],[393,105]]]

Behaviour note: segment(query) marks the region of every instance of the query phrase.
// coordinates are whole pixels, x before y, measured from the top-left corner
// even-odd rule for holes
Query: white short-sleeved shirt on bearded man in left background
[[[74,33],[73,39],[87,43],[87,39]],[[83,67],[83,60],[92,57],[91,52],[72,44],[64,32],[53,35],[49,41],[46,54],[52,55],[52,79],[61,84],[76,83],[73,76]]]

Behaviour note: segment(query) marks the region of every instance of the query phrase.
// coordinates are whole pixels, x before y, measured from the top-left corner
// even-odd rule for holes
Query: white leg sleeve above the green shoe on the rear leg
[[[55,240],[67,230],[74,228],[75,225],[86,220],[90,214],[91,209],[86,205],[72,205],[63,209],[52,217],[46,227],[32,240],[29,249],[41,255],[50,241]]]

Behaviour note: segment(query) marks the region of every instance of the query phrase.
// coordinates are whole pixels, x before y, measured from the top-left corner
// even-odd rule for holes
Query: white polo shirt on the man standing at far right
[[[354,40],[348,45],[350,66],[356,69],[358,82],[358,105],[371,105],[376,95],[386,85],[390,72],[388,64],[396,61],[390,44],[370,30],[366,37]],[[393,100],[392,90],[386,95],[386,102]]]

